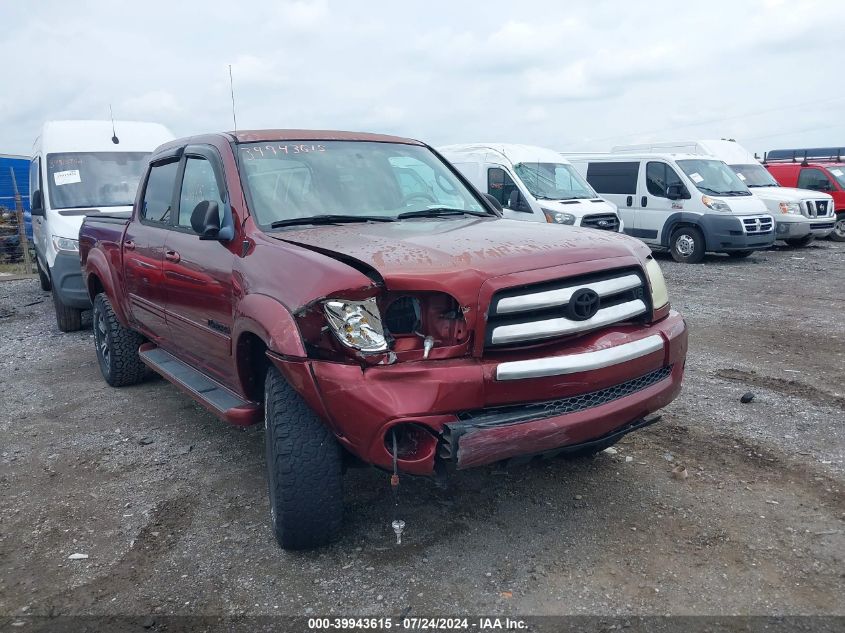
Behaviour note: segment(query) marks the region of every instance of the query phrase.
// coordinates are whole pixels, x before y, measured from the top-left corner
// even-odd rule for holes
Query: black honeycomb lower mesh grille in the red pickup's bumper
[[[566,415],[567,413],[576,413],[613,402],[614,400],[619,400],[620,398],[642,391],[647,387],[651,387],[661,380],[668,378],[672,373],[672,367],[672,365],[661,367],[639,378],[634,378],[633,380],[613,385],[606,389],[582,393],[568,398],[465,411],[458,414],[458,419],[461,422],[471,424],[473,427],[499,426],[503,424],[545,420],[546,418]]]

